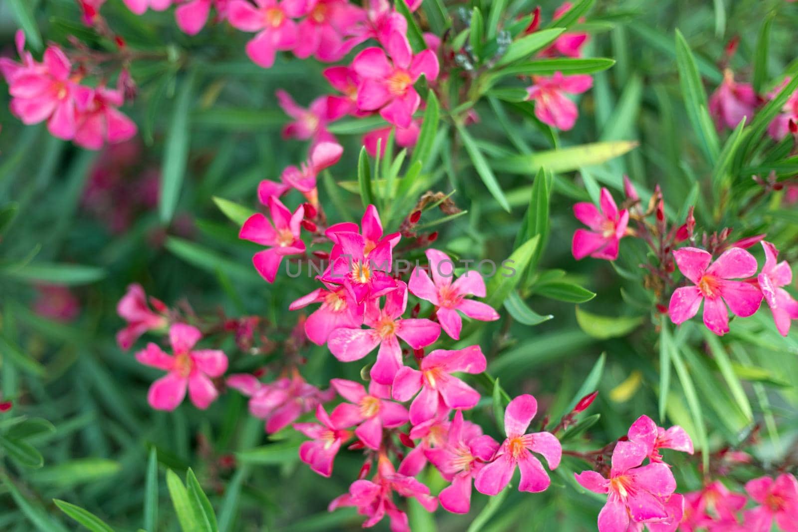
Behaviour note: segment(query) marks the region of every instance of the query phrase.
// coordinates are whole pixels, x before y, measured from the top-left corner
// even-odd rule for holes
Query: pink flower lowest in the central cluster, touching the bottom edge
[[[397,474],[387,456],[381,454],[377,462],[377,475],[373,480],[355,480],[349,493],[330,502],[328,510],[342,506],[358,508],[358,514],[368,516],[364,528],[376,525],[388,514],[392,532],[410,532],[407,514],[399,510],[393,502],[393,492],[401,497],[413,497],[425,510],[435,511],[438,501],[429,495],[429,487],[412,477]]]

